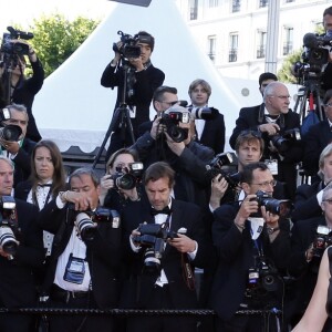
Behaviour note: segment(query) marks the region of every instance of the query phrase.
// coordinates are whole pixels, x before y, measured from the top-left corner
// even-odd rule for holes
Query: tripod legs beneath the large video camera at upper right
[[[309,111],[314,111],[320,121],[324,120],[320,98],[320,81],[317,79],[308,80],[304,86],[298,91],[298,97],[294,105],[294,112],[299,113],[300,121],[307,115],[307,101],[309,101]],[[313,105],[315,104],[315,110]]]

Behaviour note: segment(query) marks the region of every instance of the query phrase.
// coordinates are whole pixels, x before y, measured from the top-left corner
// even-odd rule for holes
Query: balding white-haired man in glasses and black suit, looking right
[[[297,163],[302,159],[300,137],[294,134],[299,133],[300,117],[289,108],[289,91],[280,82],[271,82],[266,87],[263,101],[264,107],[255,108],[252,112],[247,112],[246,108],[240,111],[229,143],[235,148],[235,142],[242,131],[259,131],[264,141],[261,160],[269,165],[278,180],[286,184],[287,198],[293,199]],[[289,131],[294,132],[291,138],[283,136]]]

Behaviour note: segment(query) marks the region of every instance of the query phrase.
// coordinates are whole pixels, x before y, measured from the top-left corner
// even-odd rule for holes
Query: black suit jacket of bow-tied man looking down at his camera
[[[204,267],[211,258],[211,252],[209,251],[210,245],[200,209],[194,204],[173,199],[172,210],[170,230],[177,231],[179,228],[185,227],[187,229],[186,235],[198,243],[196,258],[191,261],[193,270],[194,267]],[[151,215],[148,201],[141,200],[126,206],[123,211],[123,242],[127,252],[126,264],[129,270],[122,297],[122,305],[125,308],[146,308],[149,293],[154,289],[158,277],[158,274],[149,274],[143,271],[144,248],[139,252],[134,252],[129,246],[132,231],[144,221],[147,224],[155,222],[154,217]],[[166,245],[162,267],[168,280],[174,309],[196,308],[198,305],[196,292],[185,284],[183,278],[181,253],[174,247]]]

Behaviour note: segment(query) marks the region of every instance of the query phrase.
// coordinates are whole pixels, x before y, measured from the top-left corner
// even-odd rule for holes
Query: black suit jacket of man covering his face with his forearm
[[[45,291],[49,291],[53,283],[58,259],[65,249],[74,227],[75,212],[71,211],[68,219],[65,215],[66,208],[59,209],[55,200],[40,211],[40,226],[55,235],[45,278]],[[112,228],[112,222],[98,222],[97,230],[93,240],[85,241],[92,291],[98,308],[115,308],[121,288],[121,228]]]

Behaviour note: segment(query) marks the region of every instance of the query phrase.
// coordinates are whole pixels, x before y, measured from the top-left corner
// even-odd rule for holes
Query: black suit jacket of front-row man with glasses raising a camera
[[[239,205],[224,205],[215,210],[212,240],[217,250],[218,266],[216,269],[210,305],[222,320],[230,320],[240,303],[245,300],[248,270],[253,266],[253,241],[250,235],[250,222],[246,221],[243,231],[239,231],[234,220]],[[276,267],[284,269],[290,252],[289,232],[281,228],[274,241],[270,243],[267,232],[262,231],[264,256]]]

